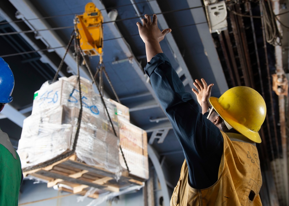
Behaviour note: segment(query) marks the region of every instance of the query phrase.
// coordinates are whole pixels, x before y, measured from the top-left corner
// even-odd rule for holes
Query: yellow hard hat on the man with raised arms
[[[209,101],[236,131],[256,143],[261,142],[258,131],[266,116],[266,104],[257,91],[247,86],[236,86],[220,98],[210,97]]]

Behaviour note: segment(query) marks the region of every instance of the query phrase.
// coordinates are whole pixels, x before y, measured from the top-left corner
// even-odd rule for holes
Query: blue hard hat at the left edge
[[[10,103],[14,88],[14,76],[9,65],[0,57],[0,103]]]

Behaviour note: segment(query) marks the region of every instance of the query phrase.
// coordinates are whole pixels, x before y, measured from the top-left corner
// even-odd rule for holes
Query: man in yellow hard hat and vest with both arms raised
[[[144,71],[185,156],[170,205],[262,205],[256,148],[266,116],[262,96],[238,86],[220,98],[210,97],[213,84],[202,79],[195,80],[197,90],[192,89],[196,101],[162,52],[159,42],[171,29],[160,31],[156,15],[152,19],[145,15],[137,26],[146,47]]]

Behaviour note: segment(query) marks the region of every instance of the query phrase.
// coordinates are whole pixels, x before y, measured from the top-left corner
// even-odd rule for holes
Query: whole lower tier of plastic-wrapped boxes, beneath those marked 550
[[[72,150],[79,109],[59,106],[25,119],[18,154],[22,167],[50,160]],[[99,118],[82,112],[76,155],[88,165],[117,173],[119,141],[112,128]]]

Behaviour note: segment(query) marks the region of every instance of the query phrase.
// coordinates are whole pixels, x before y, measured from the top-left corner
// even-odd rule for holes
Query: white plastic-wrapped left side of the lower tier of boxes
[[[17,150],[22,167],[37,165],[68,149],[72,126],[61,124],[62,116],[63,108],[59,107],[24,120]]]

